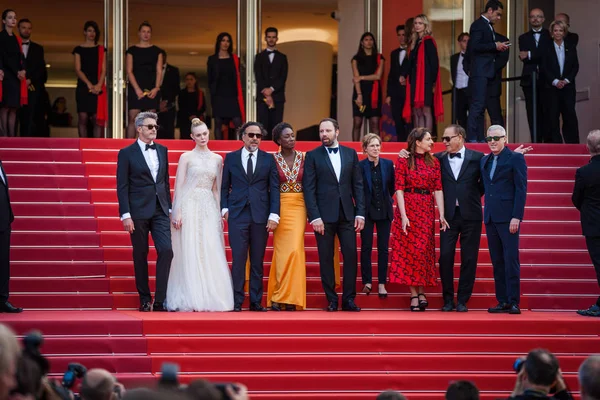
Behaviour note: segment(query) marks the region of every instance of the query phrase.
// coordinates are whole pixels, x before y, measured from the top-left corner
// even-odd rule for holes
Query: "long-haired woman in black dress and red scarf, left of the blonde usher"
[[[352,140],[360,141],[363,118],[369,120],[369,132],[379,135],[381,117],[381,75],[385,59],[377,52],[375,36],[365,32],[358,51],[352,57],[354,91],[352,93]]]

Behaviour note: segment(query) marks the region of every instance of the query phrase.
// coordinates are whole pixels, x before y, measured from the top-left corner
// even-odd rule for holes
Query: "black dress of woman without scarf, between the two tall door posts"
[[[160,52],[161,50],[157,46],[131,46],[127,49],[127,54],[131,54],[133,57],[133,75],[143,92],[149,92],[156,87],[156,63]],[[153,99],[148,96],[138,99],[131,83],[128,87],[127,102],[130,110],[158,110],[160,93]]]

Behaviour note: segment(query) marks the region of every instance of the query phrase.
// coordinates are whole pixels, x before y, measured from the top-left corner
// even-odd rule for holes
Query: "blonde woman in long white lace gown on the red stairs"
[[[233,286],[220,213],[223,158],[211,152],[209,131],[192,120],[192,151],[181,155],[172,215],[173,262],[167,286],[170,311],[231,311]]]

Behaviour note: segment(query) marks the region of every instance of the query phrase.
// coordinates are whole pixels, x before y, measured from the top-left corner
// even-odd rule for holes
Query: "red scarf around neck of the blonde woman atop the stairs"
[[[425,106],[425,41],[431,40],[435,51],[437,52],[437,44],[431,36],[424,36],[419,46],[417,53],[417,76],[416,76],[416,88],[415,88],[415,108],[423,108]],[[404,102],[404,109],[402,110],[402,117],[405,121],[410,122],[412,117],[411,102],[410,102],[410,79],[406,80],[406,100]],[[442,99],[442,85],[440,83],[440,67],[438,65],[437,80],[435,82],[435,88],[433,92],[433,110],[435,117],[438,121],[444,119],[444,102]]]

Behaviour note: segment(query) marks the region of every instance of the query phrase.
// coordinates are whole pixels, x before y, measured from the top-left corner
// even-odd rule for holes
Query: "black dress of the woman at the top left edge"
[[[2,106],[17,108],[21,106],[21,81],[19,71],[25,70],[25,57],[21,53],[17,37],[10,36],[6,30],[0,32],[0,57],[2,57]]]

